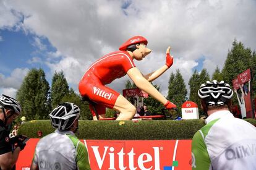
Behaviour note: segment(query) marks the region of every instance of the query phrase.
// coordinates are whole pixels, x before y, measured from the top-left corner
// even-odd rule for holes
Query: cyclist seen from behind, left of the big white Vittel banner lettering
[[[30,169],[90,169],[85,145],[75,137],[80,109],[74,103],[59,104],[49,114],[54,133],[36,145]]]

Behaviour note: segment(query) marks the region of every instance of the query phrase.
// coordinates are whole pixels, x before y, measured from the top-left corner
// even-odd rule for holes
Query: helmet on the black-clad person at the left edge
[[[20,103],[14,98],[6,95],[0,97],[0,108],[12,109],[16,114],[20,114],[22,111]]]

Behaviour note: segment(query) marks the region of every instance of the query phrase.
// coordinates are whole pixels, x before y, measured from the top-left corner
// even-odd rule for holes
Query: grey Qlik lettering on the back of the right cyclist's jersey
[[[252,156],[255,154],[256,154],[255,144],[229,148],[225,151],[225,157],[228,161],[245,158],[247,156]]]

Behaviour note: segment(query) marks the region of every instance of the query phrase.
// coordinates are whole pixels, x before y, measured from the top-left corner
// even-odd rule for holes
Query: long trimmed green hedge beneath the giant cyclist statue
[[[256,125],[255,119],[245,119]],[[101,140],[169,140],[191,139],[205,125],[201,119],[182,121],[79,121],[79,138]],[[54,132],[49,120],[30,121],[21,125],[19,134],[38,138]]]

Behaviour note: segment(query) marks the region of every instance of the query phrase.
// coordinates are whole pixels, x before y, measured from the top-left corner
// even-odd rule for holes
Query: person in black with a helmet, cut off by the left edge
[[[22,135],[9,138],[8,126],[20,115],[21,110],[17,100],[6,95],[0,96],[0,169],[14,168],[20,151],[26,145],[22,143],[25,138]]]

